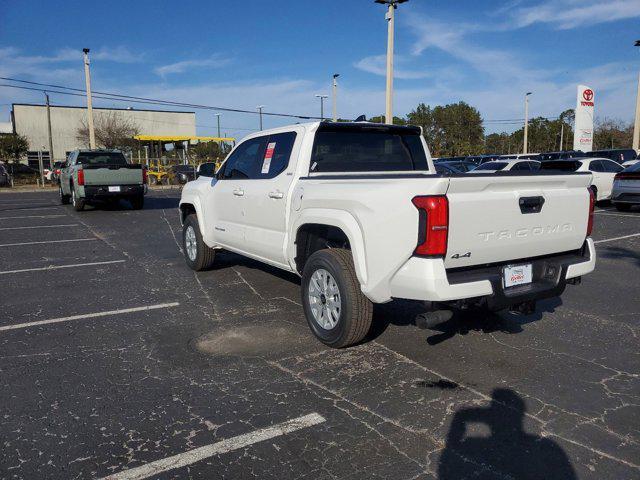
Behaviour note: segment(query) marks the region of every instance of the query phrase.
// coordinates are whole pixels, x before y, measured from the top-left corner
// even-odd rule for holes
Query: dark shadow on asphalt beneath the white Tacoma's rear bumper
[[[516,315],[512,313],[493,313],[483,310],[455,312],[453,317],[431,329],[434,333],[427,337],[429,345],[437,345],[456,335],[466,335],[476,331],[482,333],[503,332],[509,334],[524,331],[523,326],[537,322],[545,313],[553,313],[562,305],[562,299],[555,297],[539,302],[532,315]],[[416,316],[424,312],[420,302],[395,300],[384,305],[377,305],[374,309],[373,325],[368,340],[374,340],[384,333],[389,325],[416,325]]]

